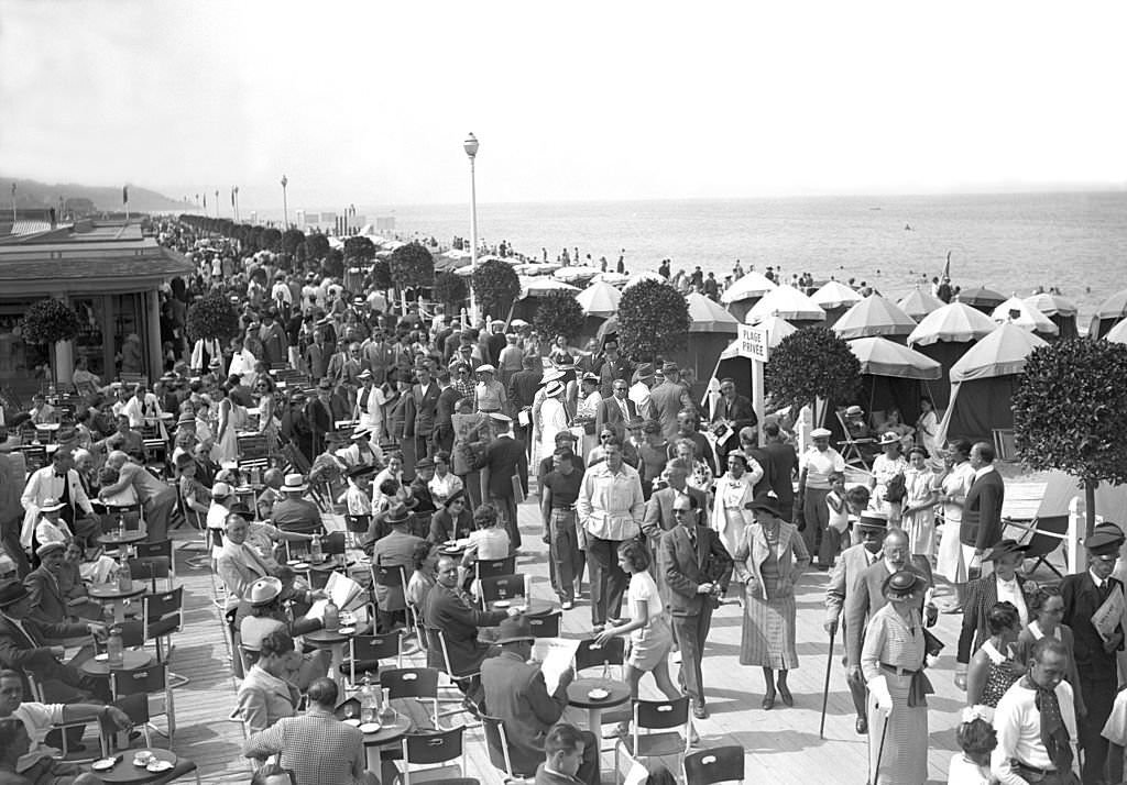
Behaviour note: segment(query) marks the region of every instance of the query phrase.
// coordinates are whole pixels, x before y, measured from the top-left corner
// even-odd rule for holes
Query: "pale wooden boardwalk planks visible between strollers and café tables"
[[[541,523],[535,499],[521,506],[524,550],[520,571],[533,577],[533,595],[551,597],[548,583],[547,546],[540,542]],[[186,539],[188,533],[176,533]],[[1059,561],[1059,559],[1057,559]],[[242,732],[225,717],[234,705],[236,681],[223,643],[219,610],[211,603],[211,579],[206,569],[192,569],[181,552],[178,576],[185,587],[186,630],[177,636],[172,669],[192,681],[175,690],[177,733],[174,749],[195,760],[207,783],[246,782],[249,767],[239,756]],[[1048,577],[1047,571],[1039,578]],[[825,739],[818,738],[822,685],[825,678],[827,640],[822,628],[826,573],[811,571],[796,589],[798,601],[798,653],[800,667],[791,674],[795,706],[760,707],[763,677],[758,668],[738,662],[742,610],[724,605],[717,612],[706,649],[704,685],[710,717],[696,723],[702,747],[739,744],[746,750],[747,779],[783,785],[810,782],[863,783],[868,777],[867,742],[853,729],[853,707],[841,666],[842,643],[834,653]],[[942,592],[941,592],[942,594]],[[589,633],[591,610],[586,596],[567,612],[562,634],[583,637]],[[962,694],[953,685],[955,648],[959,616],[940,616],[935,634],[947,644],[930,676],[935,694],[930,704],[930,782],[947,780],[947,766],[956,751],[955,726]],[[419,658],[414,658],[421,664]],[[673,666],[674,668],[676,666]],[[658,697],[649,677],[642,679],[642,697]],[[567,717],[585,726],[585,713],[569,710]],[[458,717],[447,717],[458,722]],[[607,726],[609,728],[609,726]],[[603,742],[604,750],[611,741]],[[163,746],[163,744],[160,744]],[[613,757],[604,753],[604,782],[612,782]],[[675,760],[668,760],[674,767]],[[500,773],[491,767],[481,730],[467,733],[467,769],[482,783],[502,785]]]

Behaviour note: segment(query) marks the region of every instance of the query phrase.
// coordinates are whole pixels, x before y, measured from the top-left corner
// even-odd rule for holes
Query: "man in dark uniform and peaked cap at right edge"
[[[1122,594],[1124,585],[1111,577],[1124,543],[1124,534],[1115,524],[1095,527],[1084,541],[1088,548],[1088,570],[1061,580],[1064,618],[1072,627],[1073,655],[1080,671],[1080,694],[1088,714],[1080,719],[1080,747],[1084,750],[1084,785],[1103,778],[1103,764],[1108,757],[1108,740],[1101,735],[1111,714],[1118,681],[1116,652],[1124,648],[1122,625],[1101,633],[1092,624],[1094,614],[1113,591]]]

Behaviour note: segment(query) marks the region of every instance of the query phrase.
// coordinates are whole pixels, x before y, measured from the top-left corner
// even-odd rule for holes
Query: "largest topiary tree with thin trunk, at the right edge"
[[[1127,482],[1127,346],[1071,338],[1026,359],[1013,394],[1018,456],[1037,470],[1056,469],[1084,487],[1088,534],[1095,526],[1100,482]]]

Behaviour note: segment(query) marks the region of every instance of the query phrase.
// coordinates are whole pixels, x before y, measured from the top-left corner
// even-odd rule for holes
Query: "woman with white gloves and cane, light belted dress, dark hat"
[[[925,643],[920,617],[924,580],[900,570],[885,579],[888,604],[864,632],[861,672],[869,687],[869,782],[922,785],[928,779]],[[878,770],[879,767],[879,770]]]

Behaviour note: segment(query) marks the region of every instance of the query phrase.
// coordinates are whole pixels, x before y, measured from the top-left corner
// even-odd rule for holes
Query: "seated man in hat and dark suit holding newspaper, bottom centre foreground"
[[[529,621],[524,616],[507,618],[500,623],[498,633],[500,653],[481,663],[485,713],[502,721],[513,773],[527,777],[544,760],[544,740],[567,708],[567,687],[575,679],[575,671],[565,670],[556,690],[549,693],[540,664],[529,662],[535,640]],[[583,741],[583,764],[576,777],[597,783],[598,740],[587,731]]]

